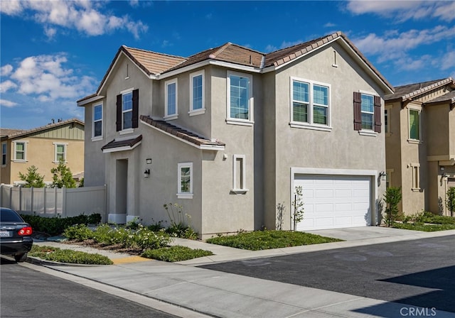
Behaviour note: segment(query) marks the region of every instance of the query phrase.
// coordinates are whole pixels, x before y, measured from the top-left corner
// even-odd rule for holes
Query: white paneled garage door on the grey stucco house
[[[302,187],[304,219],[297,231],[371,224],[370,177],[296,175]]]

